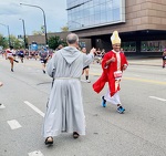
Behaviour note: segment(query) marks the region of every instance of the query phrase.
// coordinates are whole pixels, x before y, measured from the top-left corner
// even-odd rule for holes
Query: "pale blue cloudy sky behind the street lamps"
[[[48,32],[60,32],[68,23],[66,0],[0,0],[0,23],[9,25],[10,34],[23,34],[23,24],[19,19],[24,20],[28,35],[32,34],[32,31],[40,31],[44,24],[40,9],[20,3],[39,6],[44,10]],[[7,37],[8,29],[0,25],[0,33]]]

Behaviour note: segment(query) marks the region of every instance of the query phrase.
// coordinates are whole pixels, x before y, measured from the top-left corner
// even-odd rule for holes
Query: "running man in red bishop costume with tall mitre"
[[[117,106],[118,113],[124,113],[125,108],[121,104],[120,100],[120,82],[123,75],[123,71],[126,70],[128,63],[126,56],[121,52],[121,39],[118,32],[114,31],[111,37],[113,50],[105,53],[102,61],[103,73],[101,77],[93,84],[93,90],[100,93],[105,83],[108,83],[108,90],[104,96],[102,96],[102,106],[106,106],[106,102],[110,102]]]

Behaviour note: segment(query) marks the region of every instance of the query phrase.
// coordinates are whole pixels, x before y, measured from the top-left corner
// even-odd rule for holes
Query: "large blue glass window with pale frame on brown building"
[[[125,0],[68,0],[70,30],[125,22],[124,12]],[[73,21],[80,24],[71,24]]]

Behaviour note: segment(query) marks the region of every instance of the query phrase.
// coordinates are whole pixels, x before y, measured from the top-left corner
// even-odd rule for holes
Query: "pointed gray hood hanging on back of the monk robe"
[[[72,64],[81,55],[81,52],[74,46],[65,46],[60,53],[69,64]]]

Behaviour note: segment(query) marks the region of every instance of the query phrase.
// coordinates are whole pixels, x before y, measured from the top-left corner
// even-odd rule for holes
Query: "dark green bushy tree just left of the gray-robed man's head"
[[[55,50],[60,44],[66,45],[66,42],[61,40],[59,35],[50,37],[48,40],[49,48]]]

